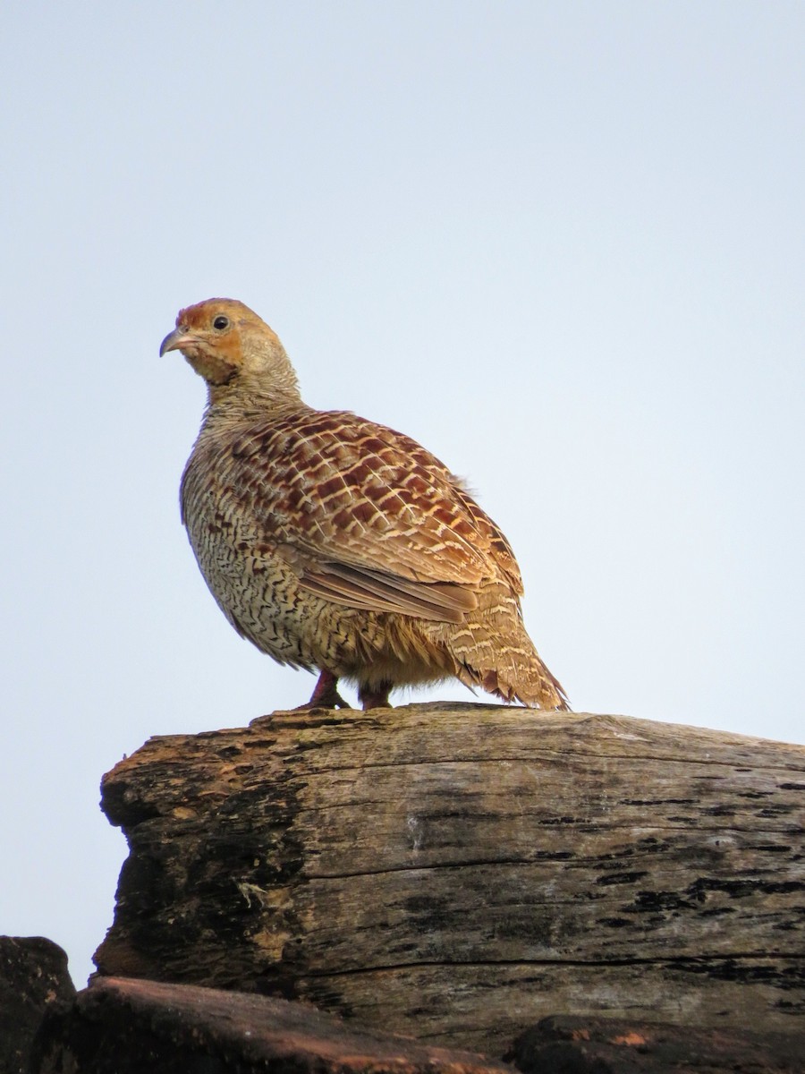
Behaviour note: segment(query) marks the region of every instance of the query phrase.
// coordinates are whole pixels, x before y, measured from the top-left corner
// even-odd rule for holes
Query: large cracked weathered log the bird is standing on
[[[494,706],[149,740],[102,974],[501,1054],[546,1015],[794,1032],[805,749]]]

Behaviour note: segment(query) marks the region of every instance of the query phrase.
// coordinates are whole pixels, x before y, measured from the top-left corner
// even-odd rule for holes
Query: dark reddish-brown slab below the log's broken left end
[[[31,1071],[516,1074],[471,1053],[355,1030],[301,1003],[114,977],[45,1019]]]

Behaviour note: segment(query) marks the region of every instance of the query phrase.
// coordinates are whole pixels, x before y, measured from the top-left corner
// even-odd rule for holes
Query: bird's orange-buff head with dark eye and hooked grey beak
[[[169,350],[181,351],[210,396],[232,386],[298,398],[296,374],[276,333],[235,299],[207,299],[180,309],[160,355]]]

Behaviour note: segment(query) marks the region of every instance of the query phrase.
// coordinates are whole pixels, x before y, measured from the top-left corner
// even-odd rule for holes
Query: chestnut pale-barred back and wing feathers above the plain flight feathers
[[[275,539],[319,561],[474,585],[502,535],[415,441],[348,411],[302,411],[232,447],[243,495]],[[504,543],[504,542],[503,542]]]

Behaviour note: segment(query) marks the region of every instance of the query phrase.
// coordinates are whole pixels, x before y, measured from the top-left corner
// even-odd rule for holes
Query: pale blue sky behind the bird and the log
[[[805,741],[804,45],[775,0],[6,4],[0,932],[83,983],[101,774],[311,690],[179,525],[158,348],[215,294],[468,478],[575,709]]]

